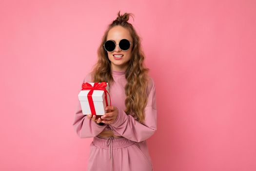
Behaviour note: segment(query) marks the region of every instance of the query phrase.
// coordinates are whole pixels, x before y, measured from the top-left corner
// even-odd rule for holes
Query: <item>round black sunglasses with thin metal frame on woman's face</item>
[[[115,43],[113,40],[108,40],[103,44],[103,46],[106,51],[113,52],[116,49],[117,44],[119,45],[121,50],[126,51],[130,48],[132,43],[127,39],[122,39],[119,43]]]

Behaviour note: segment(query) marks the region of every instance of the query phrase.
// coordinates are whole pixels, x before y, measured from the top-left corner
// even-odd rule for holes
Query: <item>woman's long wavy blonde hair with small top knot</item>
[[[147,104],[146,88],[149,81],[149,69],[144,66],[145,55],[141,48],[140,37],[133,25],[127,22],[129,16],[132,15],[132,13],[124,13],[123,15],[120,15],[119,11],[116,20],[108,25],[98,47],[98,61],[93,66],[94,68],[91,73],[93,82],[108,82],[109,86],[111,86],[111,83],[114,81],[111,75],[111,62],[108,59],[108,54],[105,51],[103,44],[106,42],[108,32],[111,28],[118,25],[127,28],[133,39],[133,46],[131,59],[128,68],[125,71],[125,78],[127,80],[127,84],[124,87],[126,95],[125,113],[132,115],[138,122],[142,123],[145,119],[144,108]]]

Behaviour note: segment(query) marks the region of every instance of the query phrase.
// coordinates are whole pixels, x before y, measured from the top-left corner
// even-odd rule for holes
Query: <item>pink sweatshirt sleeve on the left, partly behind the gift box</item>
[[[90,75],[86,75],[83,80],[83,83],[91,82]],[[81,84],[82,85],[82,84]],[[73,128],[77,132],[80,138],[91,138],[97,136],[107,124],[101,126],[97,122],[88,119],[86,115],[83,115],[80,102],[78,100],[78,107],[75,113],[75,118],[73,122]]]

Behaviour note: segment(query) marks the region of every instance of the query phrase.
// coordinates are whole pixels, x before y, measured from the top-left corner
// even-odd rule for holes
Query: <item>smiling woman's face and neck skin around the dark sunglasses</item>
[[[126,70],[129,64],[129,61],[131,59],[131,49],[133,44],[130,45],[130,48],[126,51],[123,51],[119,48],[118,43],[122,39],[127,39],[129,42],[132,43],[132,37],[130,35],[130,32],[128,29],[122,27],[122,26],[115,26],[111,28],[108,32],[107,41],[113,40],[117,43],[116,49],[113,52],[107,52],[108,53],[108,59],[111,61],[111,69],[112,70]],[[123,55],[121,58],[118,58],[119,56],[115,55]]]

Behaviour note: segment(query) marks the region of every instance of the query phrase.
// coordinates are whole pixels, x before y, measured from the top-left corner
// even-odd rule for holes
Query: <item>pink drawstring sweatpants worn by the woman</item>
[[[96,136],[90,145],[87,171],[153,171],[146,141]]]

